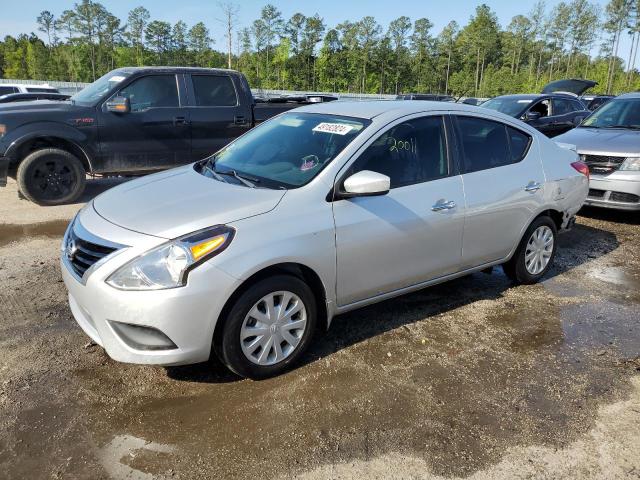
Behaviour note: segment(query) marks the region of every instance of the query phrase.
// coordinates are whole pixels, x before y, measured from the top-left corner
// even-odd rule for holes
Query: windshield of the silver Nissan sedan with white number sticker
[[[368,120],[290,112],[263,123],[202,164],[206,176],[249,186],[296,188],[310,182]],[[245,181],[243,181],[245,180]]]

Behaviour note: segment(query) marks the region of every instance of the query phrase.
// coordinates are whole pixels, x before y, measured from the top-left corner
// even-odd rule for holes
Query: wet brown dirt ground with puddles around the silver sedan
[[[640,215],[582,212],[541,284],[497,268],[338,317],[253,382],[89,343],[58,265],[79,206],[0,189],[0,478],[640,478]]]

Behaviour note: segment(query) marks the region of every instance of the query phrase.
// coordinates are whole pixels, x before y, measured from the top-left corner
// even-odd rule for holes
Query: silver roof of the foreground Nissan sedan
[[[462,103],[431,102],[428,100],[363,100],[317,103],[295,109],[295,112],[324,113],[345,117],[373,118],[393,112],[401,117],[429,111],[478,112],[478,108]]]

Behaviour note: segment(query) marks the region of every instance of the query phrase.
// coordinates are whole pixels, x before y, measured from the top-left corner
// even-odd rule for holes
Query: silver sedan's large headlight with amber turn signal
[[[187,284],[191,270],[226,249],[235,230],[219,225],[160,245],[116,270],[107,283],[121,290],[162,290]]]

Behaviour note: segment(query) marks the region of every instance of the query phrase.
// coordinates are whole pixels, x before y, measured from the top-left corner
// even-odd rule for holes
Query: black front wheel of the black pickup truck
[[[18,167],[16,180],[28,200],[39,205],[61,205],[82,195],[86,172],[75,155],[45,148],[27,155]]]

